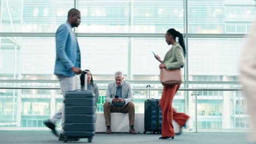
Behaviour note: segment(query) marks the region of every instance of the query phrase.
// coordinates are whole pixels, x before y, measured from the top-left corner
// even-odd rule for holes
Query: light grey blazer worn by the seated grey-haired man
[[[112,104],[112,100],[115,97],[115,93],[117,92],[117,85],[115,81],[108,83],[108,89],[106,93],[105,100]],[[122,97],[125,100],[125,104],[130,103],[132,100],[132,88],[131,84],[127,81],[123,81],[122,84]]]

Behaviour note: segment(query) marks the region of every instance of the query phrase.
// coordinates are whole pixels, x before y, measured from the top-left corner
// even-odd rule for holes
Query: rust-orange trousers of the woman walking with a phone
[[[162,92],[162,98],[160,100],[162,109],[162,137],[175,136],[172,119],[174,119],[180,127],[182,127],[189,119],[189,116],[185,113],[178,113],[172,108],[172,100],[180,86],[181,85],[164,86],[164,91]]]

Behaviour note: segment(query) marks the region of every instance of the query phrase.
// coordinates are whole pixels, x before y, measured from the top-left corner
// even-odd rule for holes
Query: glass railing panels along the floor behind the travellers
[[[98,83],[100,100],[97,112],[103,112],[107,83]],[[144,113],[147,85],[151,85],[150,98],[161,98],[161,83],[131,84],[136,113]],[[174,97],[173,107],[191,117],[186,131],[245,131],[249,128],[246,101],[240,85],[189,83],[187,87],[190,88],[184,86]],[[0,128],[44,127],[43,121],[61,106],[62,95],[59,83],[55,81],[0,83]]]

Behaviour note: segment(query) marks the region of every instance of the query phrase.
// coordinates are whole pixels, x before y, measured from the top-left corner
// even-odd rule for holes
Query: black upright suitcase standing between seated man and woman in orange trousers
[[[150,131],[151,134],[161,133],[161,130],[162,110],[159,105],[159,99],[150,99],[150,85],[148,85],[147,100],[144,102],[144,134],[146,134],[147,131]]]

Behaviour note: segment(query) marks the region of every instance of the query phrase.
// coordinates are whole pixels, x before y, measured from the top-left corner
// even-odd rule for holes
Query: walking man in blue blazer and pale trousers
[[[75,90],[75,75],[83,73],[80,69],[80,49],[77,42],[77,38],[72,31],[73,27],[78,27],[81,22],[80,11],[77,9],[70,9],[68,11],[68,20],[63,23],[56,32],[56,60],[54,74],[60,81],[60,88],[65,99],[67,91]],[[62,130],[60,136],[57,134],[55,124],[62,118],[61,125]],[[59,140],[66,139],[63,131],[63,124],[65,122],[65,111],[62,109],[55,114],[55,116],[44,124],[50,128],[54,135],[59,136]],[[79,139],[73,139],[79,140]]]

